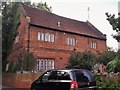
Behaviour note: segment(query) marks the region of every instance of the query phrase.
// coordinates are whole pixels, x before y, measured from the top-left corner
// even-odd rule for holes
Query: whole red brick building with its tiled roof
[[[18,35],[9,58],[34,53],[37,70],[64,68],[71,52],[106,50],[106,36],[89,21],[82,22],[20,4]]]

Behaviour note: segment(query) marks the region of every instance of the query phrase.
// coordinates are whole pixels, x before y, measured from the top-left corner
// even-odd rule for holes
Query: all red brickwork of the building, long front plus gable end
[[[20,22],[21,24],[18,28],[20,40],[17,44],[14,44],[12,52],[9,56],[9,59],[12,58],[13,60],[17,60],[17,55],[20,52],[25,52],[28,45],[28,20],[26,17],[21,15]],[[40,31],[54,33],[55,42],[38,41],[38,32]],[[75,38],[77,40],[76,45],[67,45],[67,37]],[[97,43],[96,49],[90,47],[91,41],[95,41]],[[30,26],[30,52],[34,53],[36,59],[53,58],[55,60],[55,68],[64,68],[68,62],[70,53],[74,49],[76,49],[77,52],[85,50],[101,52],[106,50],[106,41]]]

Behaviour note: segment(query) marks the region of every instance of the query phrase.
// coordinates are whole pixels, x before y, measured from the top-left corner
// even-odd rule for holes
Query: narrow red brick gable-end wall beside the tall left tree
[[[19,41],[15,43],[15,40],[13,42],[13,47],[11,50],[10,55],[8,56],[8,60],[13,60],[16,61],[18,59],[18,55],[20,53],[23,53],[27,49],[28,45],[28,20],[26,17],[20,15],[20,25],[18,27],[18,35],[19,36]]]

